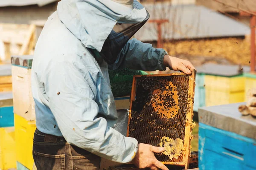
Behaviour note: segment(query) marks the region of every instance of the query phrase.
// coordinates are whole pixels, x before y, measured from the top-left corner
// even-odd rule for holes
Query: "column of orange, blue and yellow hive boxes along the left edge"
[[[16,167],[12,65],[0,65],[0,170]]]

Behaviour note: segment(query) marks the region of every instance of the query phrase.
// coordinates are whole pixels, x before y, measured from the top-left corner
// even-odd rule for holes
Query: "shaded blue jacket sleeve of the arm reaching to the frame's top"
[[[129,40],[116,62],[108,65],[110,70],[131,68],[143,71],[166,70],[163,57],[167,54],[162,48],[153,48],[151,44],[143,43],[137,39]]]

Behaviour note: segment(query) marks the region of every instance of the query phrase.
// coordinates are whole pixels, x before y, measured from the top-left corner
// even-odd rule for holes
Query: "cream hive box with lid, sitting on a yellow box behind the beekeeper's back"
[[[12,57],[12,92],[14,113],[35,120],[35,102],[31,90],[33,56]]]

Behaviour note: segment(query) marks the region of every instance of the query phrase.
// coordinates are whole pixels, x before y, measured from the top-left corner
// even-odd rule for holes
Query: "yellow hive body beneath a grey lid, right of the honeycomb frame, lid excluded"
[[[205,75],[206,106],[244,102],[244,77]]]

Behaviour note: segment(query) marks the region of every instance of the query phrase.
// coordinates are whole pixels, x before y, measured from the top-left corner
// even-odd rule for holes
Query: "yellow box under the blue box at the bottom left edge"
[[[0,170],[16,168],[15,129],[0,128]]]

